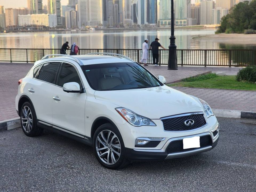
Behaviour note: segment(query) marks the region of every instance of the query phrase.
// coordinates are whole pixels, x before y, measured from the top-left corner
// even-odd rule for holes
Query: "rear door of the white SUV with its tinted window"
[[[57,88],[57,71],[60,62],[44,63],[34,69],[34,78],[26,85],[37,119],[49,124],[53,122],[53,91]]]

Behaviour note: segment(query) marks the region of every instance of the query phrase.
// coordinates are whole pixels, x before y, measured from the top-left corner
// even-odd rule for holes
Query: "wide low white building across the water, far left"
[[[47,27],[57,26],[57,16],[53,14],[19,15],[18,21],[20,26],[25,26],[25,25],[43,25]]]

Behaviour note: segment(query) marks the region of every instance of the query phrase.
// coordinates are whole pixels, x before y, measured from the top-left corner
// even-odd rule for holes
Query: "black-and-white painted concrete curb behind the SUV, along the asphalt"
[[[256,112],[253,112],[253,111],[213,109],[213,113],[216,117],[256,121]],[[19,117],[0,121],[0,131],[11,130],[11,129],[19,128],[20,126],[21,125],[20,125]]]

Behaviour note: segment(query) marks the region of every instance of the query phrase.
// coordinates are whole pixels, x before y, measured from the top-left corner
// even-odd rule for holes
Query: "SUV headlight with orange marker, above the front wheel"
[[[125,121],[127,121],[133,126],[156,126],[155,123],[151,121],[149,118],[138,115],[124,107],[117,107],[115,108],[115,110],[117,110],[117,112],[125,119]]]

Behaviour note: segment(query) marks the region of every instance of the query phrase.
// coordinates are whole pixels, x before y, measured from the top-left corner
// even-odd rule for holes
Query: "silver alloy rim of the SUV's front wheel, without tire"
[[[96,139],[96,151],[102,162],[115,164],[121,154],[121,145],[115,133],[110,130],[101,131]]]

